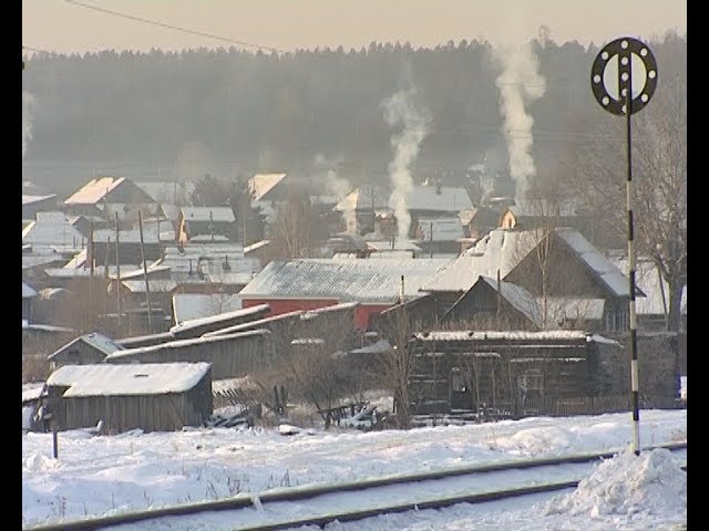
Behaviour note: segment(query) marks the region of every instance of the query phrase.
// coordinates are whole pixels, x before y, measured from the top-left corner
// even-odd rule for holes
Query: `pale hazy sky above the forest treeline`
[[[131,20],[115,11],[226,40]],[[687,31],[685,0],[22,0],[22,45],[61,53],[151,48],[228,48],[236,42],[282,51],[370,42],[433,48],[449,40],[499,43],[535,37],[605,44]],[[247,49],[254,49],[247,46]]]

